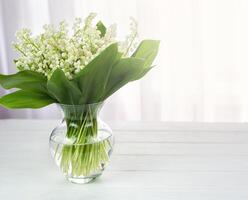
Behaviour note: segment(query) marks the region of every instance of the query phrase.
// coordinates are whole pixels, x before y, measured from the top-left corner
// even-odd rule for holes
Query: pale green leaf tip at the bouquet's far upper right
[[[132,57],[143,59],[145,61],[144,68],[150,67],[157,56],[158,48],[158,40],[143,40]]]

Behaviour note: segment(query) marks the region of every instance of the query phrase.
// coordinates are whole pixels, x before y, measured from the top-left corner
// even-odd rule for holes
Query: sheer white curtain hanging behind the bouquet
[[[140,38],[161,40],[154,68],[144,79],[114,94],[107,120],[248,121],[247,0],[1,0],[0,72],[13,73],[14,33],[97,12],[128,33],[129,16]],[[0,91],[3,94],[3,90]],[[52,105],[34,110],[0,110],[0,117],[56,118]]]

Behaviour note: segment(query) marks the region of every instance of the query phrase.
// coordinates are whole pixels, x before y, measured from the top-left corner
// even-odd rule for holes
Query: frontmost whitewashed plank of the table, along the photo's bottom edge
[[[104,180],[103,180],[104,181]],[[54,183],[54,182],[52,182]],[[244,189],[194,189],[194,188],[166,188],[166,187],[108,187],[99,184],[73,185],[62,184],[39,185],[34,184],[16,187],[15,192],[8,192],[13,189],[10,185],[6,190],[0,191],[2,197],[8,199],[42,199],[42,200],[247,200],[248,194]],[[52,187],[51,187],[52,186]]]

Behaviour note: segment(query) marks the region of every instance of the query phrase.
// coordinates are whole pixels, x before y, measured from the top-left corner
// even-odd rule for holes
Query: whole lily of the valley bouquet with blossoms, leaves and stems
[[[142,78],[151,68],[159,42],[143,40],[137,45],[137,23],[131,19],[131,33],[116,41],[115,25],[106,28],[95,14],[84,21],[75,19],[72,30],[66,22],[58,27],[45,25],[44,32],[32,35],[29,29],[17,32],[14,60],[19,72],[0,75],[5,89],[17,88],[0,98],[6,108],[41,108],[61,105],[66,122],[66,140],[55,151],[61,169],[72,176],[87,177],[108,161],[108,142],[91,144],[98,135],[96,118],[100,102],[130,81]],[[83,108],[79,109],[79,106]]]

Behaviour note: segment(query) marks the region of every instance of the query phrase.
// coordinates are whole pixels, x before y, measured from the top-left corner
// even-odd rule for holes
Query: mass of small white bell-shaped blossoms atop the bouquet
[[[76,18],[70,33],[65,21],[56,29],[52,25],[45,25],[44,32],[33,36],[29,29],[17,32],[18,41],[14,43],[20,57],[15,60],[19,70],[32,70],[51,77],[60,68],[65,75],[72,79],[91,60],[101,53],[107,46],[116,42],[116,25],[107,28],[101,37],[101,32],[93,25],[95,13],[91,13],[82,23]],[[131,20],[131,33],[126,40],[119,42],[119,51],[123,56],[137,45],[137,23]]]

